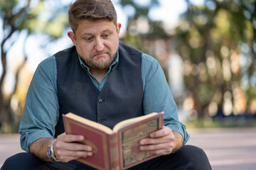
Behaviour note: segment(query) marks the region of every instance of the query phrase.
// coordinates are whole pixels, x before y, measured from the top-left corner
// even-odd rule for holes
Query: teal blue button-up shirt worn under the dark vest
[[[101,84],[92,76],[83,60],[80,57],[79,59],[81,67],[90,75],[93,84],[101,90],[112,69],[118,64],[119,55],[117,53]],[[185,125],[178,121],[176,103],[171,95],[164,72],[154,57],[144,53],[142,54],[142,84],[144,114],[152,111],[164,111],[164,125],[180,132],[183,136],[183,144],[185,144],[189,135]],[[38,65],[29,86],[18,130],[21,133],[21,148],[29,152],[29,147],[34,141],[42,137],[53,137],[58,118],[57,67],[55,56],[52,56]]]

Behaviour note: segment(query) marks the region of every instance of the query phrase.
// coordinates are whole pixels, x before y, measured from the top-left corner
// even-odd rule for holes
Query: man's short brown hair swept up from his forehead
[[[108,20],[117,25],[117,13],[110,0],[77,0],[70,5],[68,10],[68,22],[75,33],[79,21],[88,19],[97,21]]]

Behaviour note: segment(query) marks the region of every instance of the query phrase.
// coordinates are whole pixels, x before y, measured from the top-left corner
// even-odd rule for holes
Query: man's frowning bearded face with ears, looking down
[[[120,23],[82,20],[75,34],[68,32],[68,36],[90,69],[103,70],[110,67],[117,53],[120,28]]]

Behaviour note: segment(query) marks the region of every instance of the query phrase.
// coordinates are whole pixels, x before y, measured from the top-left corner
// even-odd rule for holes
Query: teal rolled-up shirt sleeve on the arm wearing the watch
[[[18,132],[21,148],[29,152],[31,144],[43,137],[53,137],[59,118],[55,57],[41,62],[28,88]]]

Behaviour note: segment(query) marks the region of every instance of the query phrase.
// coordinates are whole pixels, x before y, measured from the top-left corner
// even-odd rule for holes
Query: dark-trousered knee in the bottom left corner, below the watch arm
[[[9,157],[4,162],[1,170],[9,169],[36,169],[44,162],[33,154],[21,152]]]

